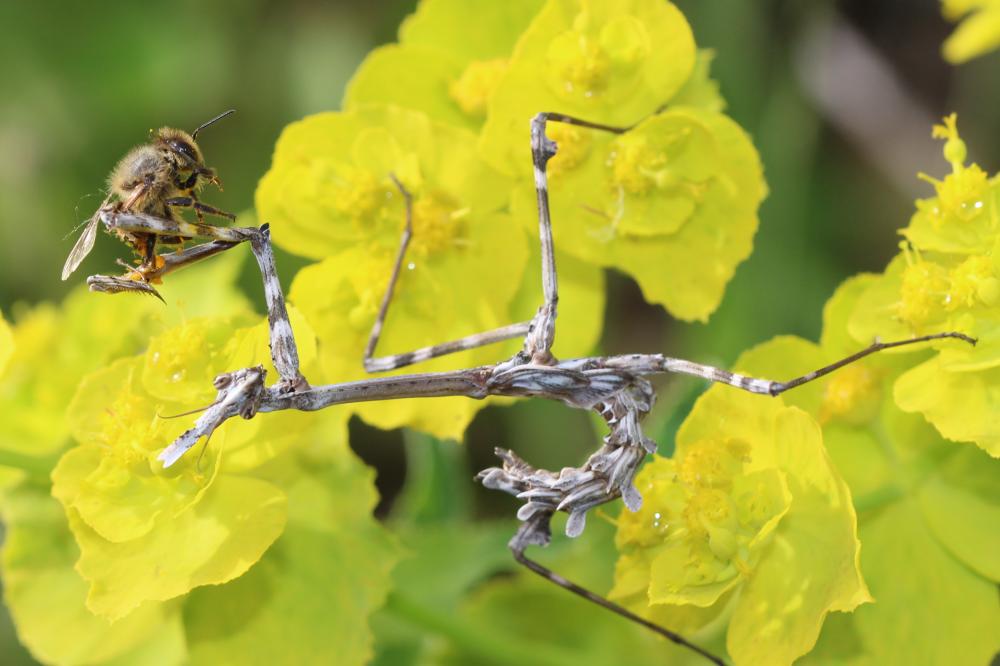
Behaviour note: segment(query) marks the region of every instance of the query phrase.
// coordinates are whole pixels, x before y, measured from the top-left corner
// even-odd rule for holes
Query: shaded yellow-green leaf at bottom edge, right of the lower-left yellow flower
[[[388,589],[397,548],[372,518],[373,474],[346,442],[325,463],[286,470],[288,527],[246,575],[185,601],[194,664],[362,664],[368,616]]]

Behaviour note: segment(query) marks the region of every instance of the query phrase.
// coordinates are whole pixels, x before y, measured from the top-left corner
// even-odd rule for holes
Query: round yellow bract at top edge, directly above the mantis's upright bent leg
[[[523,146],[536,113],[629,126],[669,100],[694,62],[691,28],[669,3],[550,1],[521,35],[493,93],[483,153],[507,173],[530,174]]]

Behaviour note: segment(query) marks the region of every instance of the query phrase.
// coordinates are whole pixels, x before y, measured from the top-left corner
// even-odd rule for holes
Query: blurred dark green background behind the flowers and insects
[[[150,128],[190,130],[236,108],[200,138],[226,186],[208,200],[251,208],[281,128],[337,108],[355,67],[394,39],[414,4],[0,2],[0,310],[9,318],[19,303],[58,301],[125,256],[102,235],[71,281],[59,280],[74,227],[99,205],[115,162]],[[753,136],[771,193],[755,252],[709,324],[671,321],[613,275],[604,348],[725,365],[776,334],[815,338],[836,285],[884,266],[913,199],[930,193],[916,173],[946,170],[932,122],[957,111],[971,158],[990,173],[1000,169],[1000,54],[946,64],[939,48],[951,26],[934,0],[677,4],[698,44],[716,49],[714,78],[728,113]],[[287,284],[301,262],[287,254],[278,261]],[[650,429],[661,445],[669,447],[702,388],[679,381],[663,389]],[[438,481],[479,504],[487,500],[469,477],[492,464],[494,445],[558,467],[596,442],[585,415],[535,403],[486,410],[467,439],[471,461],[464,451],[444,455],[454,458],[447,467],[469,473]],[[553,441],[559,446],[546,445]],[[416,459],[399,433],[355,424],[352,445],[379,469],[383,513],[403,484],[407,457],[411,471],[431,464]],[[407,492],[412,499],[419,489]],[[498,510],[512,512],[513,500],[495,499]],[[0,655],[14,663],[9,624],[3,631]]]

